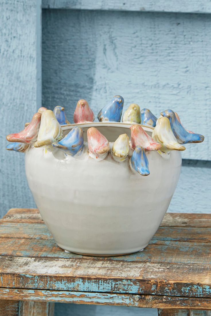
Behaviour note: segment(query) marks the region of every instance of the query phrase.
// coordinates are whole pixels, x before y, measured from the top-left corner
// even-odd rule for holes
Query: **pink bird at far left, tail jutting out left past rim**
[[[18,142],[18,143],[27,143],[32,144],[36,142],[38,131],[40,128],[40,120],[41,120],[41,114],[35,113],[32,117],[31,122],[27,127],[24,128],[19,133],[15,134],[9,134],[7,135],[7,140],[9,142]]]

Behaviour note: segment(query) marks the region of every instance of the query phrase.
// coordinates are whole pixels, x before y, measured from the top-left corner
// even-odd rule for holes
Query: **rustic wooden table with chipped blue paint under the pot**
[[[210,268],[209,214],[168,213],[142,252],[105,258],[64,252],[36,209],[0,220],[0,316],[53,316],[53,302],[208,315]]]

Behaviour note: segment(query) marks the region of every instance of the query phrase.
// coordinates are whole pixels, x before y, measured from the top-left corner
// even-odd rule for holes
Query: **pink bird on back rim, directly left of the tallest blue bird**
[[[95,119],[93,111],[86,100],[79,100],[73,115],[75,123],[93,122]]]

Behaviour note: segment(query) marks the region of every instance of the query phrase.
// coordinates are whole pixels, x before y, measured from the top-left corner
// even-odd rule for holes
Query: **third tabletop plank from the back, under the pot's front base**
[[[89,257],[65,252],[52,239],[0,238],[0,253],[7,257],[78,258],[81,260],[86,258],[89,260],[127,262],[211,264],[210,244],[165,240],[151,240],[143,251],[126,256]]]

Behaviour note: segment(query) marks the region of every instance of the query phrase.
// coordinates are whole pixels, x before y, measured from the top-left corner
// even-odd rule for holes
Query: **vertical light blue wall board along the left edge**
[[[41,103],[41,0],[1,3],[1,181],[0,212],[34,207],[27,186],[24,154],[4,148],[6,135],[21,131]]]

